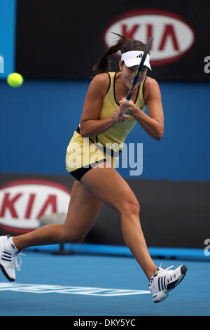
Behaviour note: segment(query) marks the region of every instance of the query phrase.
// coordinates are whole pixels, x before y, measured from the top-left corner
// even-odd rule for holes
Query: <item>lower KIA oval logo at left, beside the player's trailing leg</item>
[[[67,213],[70,193],[48,180],[18,180],[0,190],[0,228],[21,234],[39,227],[38,219],[51,213]]]

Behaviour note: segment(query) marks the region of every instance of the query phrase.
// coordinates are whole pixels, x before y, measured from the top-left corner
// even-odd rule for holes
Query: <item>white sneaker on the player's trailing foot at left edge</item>
[[[15,281],[15,267],[20,270],[21,258],[20,251],[15,252],[15,246],[8,244],[8,236],[0,236],[0,268],[3,275],[12,282]],[[20,265],[18,264],[20,258]]]

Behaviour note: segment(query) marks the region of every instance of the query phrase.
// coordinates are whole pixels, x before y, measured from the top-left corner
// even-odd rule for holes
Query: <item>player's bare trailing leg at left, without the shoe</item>
[[[71,190],[69,209],[64,225],[45,225],[24,235],[13,237],[17,249],[29,246],[81,242],[97,218],[102,202],[76,180]]]

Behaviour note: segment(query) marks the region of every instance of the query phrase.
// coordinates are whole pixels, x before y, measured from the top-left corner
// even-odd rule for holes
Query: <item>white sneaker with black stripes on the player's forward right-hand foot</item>
[[[169,296],[169,292],[185,277],[186,265],[180,265],[176,270],[170,270],[172,267],[174,266],[170,266],[165,270],[159,267],[155,270],[148,286],[153,295],[154,303],[164,301]]]

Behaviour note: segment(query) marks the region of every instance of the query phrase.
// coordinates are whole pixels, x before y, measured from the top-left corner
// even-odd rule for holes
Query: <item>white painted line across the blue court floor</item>
[[[104,289],[85,286],[60,286],[43,284],[0,283],[0,291],[17,291],[28,293],[67,293],[86,296],[130,296],[134,294],[148,294],[146,290]]]

